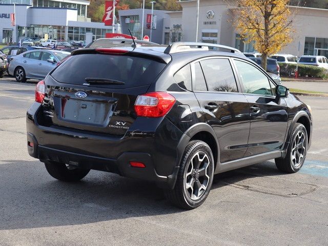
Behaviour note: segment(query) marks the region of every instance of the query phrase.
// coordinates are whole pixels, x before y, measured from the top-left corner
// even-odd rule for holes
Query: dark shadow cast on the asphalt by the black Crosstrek
[[[39,161],[3,162],[0,165],[0,230],[184,212],[171,206],[163,192],[151,182],[91,171],[83,180],[67,183],[53,179]],[[255,173],[262,175],[281,175],[272,162],[262,162],[215,175],[212,189],[250,178],[252,175],[248,173],[254,168]]]

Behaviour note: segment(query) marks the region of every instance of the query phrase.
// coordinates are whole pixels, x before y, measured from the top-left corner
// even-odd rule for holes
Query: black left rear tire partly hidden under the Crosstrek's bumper
[[[67,182],[83,179],[90,172],[90,169],[79,169],[75,167],[71,169],[65,163],[55,161],[45,161],[45,166],[52,177]]]

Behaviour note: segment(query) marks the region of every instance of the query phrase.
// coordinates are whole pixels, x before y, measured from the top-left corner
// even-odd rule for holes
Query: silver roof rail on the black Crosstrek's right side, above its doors
[[[177,42],[169,45],[168,48],[164,51],[166,54],[173,54],[177,52],[186,52],[186,51],[200,51],[200,50],[213,50],[224,49],[230,50],[231,53],[239,53],[242,52],[238,49],[232,48],[230,46],[225,45],[216,45],[216,44],[209,44],[209,43],[194,43],[194,42]]]

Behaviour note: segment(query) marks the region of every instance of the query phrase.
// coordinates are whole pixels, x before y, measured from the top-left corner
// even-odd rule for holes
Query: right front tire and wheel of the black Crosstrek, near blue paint
[[[304,136],[304,138],[300,138],[300,136]],[[301,144],[298,143],[299,141],[301,141]],[[298,172],[304,164],[307,151],[308,133],[304,125],[296,123],[285,158],[275,159],[277,168],[285,173]]]

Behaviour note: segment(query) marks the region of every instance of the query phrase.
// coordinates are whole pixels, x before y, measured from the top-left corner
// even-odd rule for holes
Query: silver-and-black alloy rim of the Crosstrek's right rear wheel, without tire
[[[185,177],[185,189],[192,200],[199,199],[210,182],[210,159],[202,151],[191,158]]]

